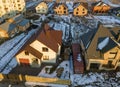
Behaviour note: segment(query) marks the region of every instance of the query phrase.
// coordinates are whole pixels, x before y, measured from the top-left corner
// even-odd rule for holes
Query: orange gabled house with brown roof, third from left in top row
[[[88,14],[88,4],[78,3],[74,6],[73,15],[74,16],[85,16]]]

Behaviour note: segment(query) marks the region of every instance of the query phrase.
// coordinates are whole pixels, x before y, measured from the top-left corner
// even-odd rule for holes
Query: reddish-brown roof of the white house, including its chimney
[[[17,54],[23,50],[27,50],[31,54],[34,54],[36,57],[39,56],[38,58],[40,58],[42,56],[42,53],[39,52],[38,54],[37,50],[29,46],[35,40],[40,41],[53,51],[58,52],[58,43],[60,43],[60,45],[62,43],[62,31],[52,30],[47,24],[44,25],[44,28],[45,29],[40,29],[37,33],[33,34]]]

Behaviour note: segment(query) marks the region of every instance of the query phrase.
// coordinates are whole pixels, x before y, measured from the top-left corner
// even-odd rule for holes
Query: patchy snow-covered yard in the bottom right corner
[[[120,72],[115,77],[108,77],[108,73],[88,73],[74,75],[74,86],[83,87],[119,87]]]

